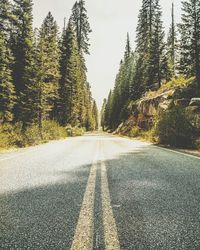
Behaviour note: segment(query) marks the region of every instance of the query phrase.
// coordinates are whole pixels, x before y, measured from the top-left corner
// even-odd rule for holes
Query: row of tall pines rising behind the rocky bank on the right
[[[167,37],[159,0],[143,0],[138,18],[136,49],[131,49],[128,36],[115,87],[103,103],[104,129],[115,130],[128,118],[130,102],[170,79],[195,76],[198,93],[194,95],[200,96],[200,0],[182,2],[182,21],[178,25],[172,4]]]

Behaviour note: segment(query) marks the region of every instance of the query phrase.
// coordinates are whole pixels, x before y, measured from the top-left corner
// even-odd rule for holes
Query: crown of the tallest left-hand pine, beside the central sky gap
[[[91,28],[84,0],[79,0],[74,4],[71,18],[76,31],[79,51],[89,54],[89,34],[91,33]]]

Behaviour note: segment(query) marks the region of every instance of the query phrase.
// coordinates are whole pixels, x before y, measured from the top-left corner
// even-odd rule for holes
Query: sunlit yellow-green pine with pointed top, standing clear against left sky
[[[39,124],[45,119],[55,119],[56,103],[58,102],[59,47],[58,27],[49,12],[39,31],[38,41],[38,72],[40,76],[40,109]]]

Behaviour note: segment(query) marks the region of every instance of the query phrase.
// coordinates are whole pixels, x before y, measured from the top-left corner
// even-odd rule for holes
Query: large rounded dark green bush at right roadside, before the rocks
[[[161,113],[155,125],[155,135],[162,144],[190,147],[193,141],[193,127],[184,110],[173,106]]]

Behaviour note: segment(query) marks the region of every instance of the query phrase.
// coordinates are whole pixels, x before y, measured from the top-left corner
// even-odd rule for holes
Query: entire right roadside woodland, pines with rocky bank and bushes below
[[[178,11],[177,24],[172,3],[166,35],[160,1],[142,1],[135,49],[128,34],[114,89],[103,103],[104,130],[173,146],[199,140],[200,0],[182,1]]]

